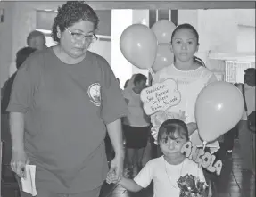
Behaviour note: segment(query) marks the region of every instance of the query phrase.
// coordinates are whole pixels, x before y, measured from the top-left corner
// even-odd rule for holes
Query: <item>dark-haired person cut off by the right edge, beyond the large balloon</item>
[[[255,175],[255,133],[249,130],[247,123],[247,114],[255,111],[255,68],[244,70],[244,85],[239,85],[238,88],[243,93],[247,105],[247,113],[244,114],[238,123],[240,156],[242,157],[242,169],[251,171]]]

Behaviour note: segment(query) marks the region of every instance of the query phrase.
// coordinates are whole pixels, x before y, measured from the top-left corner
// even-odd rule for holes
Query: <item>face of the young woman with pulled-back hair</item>
[[[198,40],[193,30],[178,29],[172,39],[171,51],[179,61],[187,62],[194,58],[198,46]]]

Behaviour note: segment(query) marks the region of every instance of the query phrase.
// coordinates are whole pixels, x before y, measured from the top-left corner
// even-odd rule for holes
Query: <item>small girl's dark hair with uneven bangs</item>
[[[184,121],[180,119],[167,119],[161,124],[159,128],[157,136],[158,144],[161,142],[162,135],[166,134],[169,136],[169,138],[175,139],[174,134],[176,132],[178,133],[179,136],[184,136],[186,140],[189,139],[188,130]]]

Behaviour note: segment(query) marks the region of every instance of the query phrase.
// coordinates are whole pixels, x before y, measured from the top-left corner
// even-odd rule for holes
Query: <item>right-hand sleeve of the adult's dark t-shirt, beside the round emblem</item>
[[[109,124],[128,114],[128,106],[122,95],[119,83],[110,65],[103,58],[102,65],[102,119]]]

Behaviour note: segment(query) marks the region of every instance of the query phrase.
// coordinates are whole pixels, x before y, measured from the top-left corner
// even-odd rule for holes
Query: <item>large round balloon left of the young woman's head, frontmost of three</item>
[[[120,50],[124,57],[139,69],[153,66],[157,39],[152,29],[142,24],[133,24],[120,37]]]

